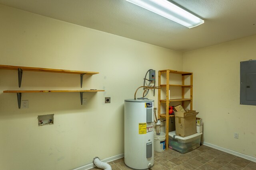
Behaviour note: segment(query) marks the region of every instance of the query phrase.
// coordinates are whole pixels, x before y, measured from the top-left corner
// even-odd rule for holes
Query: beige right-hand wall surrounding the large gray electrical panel
[[[194,109],[203,141],[256,157],[256,106],[240,105],[240,61],[256,59],[256,35],[184,53],[194,73]],[[239,139],[234,139],[234,132]]]

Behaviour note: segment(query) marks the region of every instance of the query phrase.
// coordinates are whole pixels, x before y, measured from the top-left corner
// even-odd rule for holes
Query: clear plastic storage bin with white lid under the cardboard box
[[[177,150],[180,153],[186,153],[200,147],[201,135],[203,133],[195,133],[187,137],[180,137],[175,134],[175,131],[169,132],[170,149]]]

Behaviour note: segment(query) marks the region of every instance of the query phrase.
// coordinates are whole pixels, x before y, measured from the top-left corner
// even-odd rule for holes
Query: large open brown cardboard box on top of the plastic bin
[[[187,137],[196,133],[196,115],[199,112],[188,110],[188,112],[175,112],[176,135]]]

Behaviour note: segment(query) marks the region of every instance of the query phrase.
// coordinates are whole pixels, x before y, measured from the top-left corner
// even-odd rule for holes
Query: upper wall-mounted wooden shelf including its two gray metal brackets
[[[9,66],[9,65],[0,65],[0,69],[18,70],[19,87],[21,86],[23,71],[39,71],[39,72],[55,72],[55,73],[66,73],[66,74],[80,74],[81,88],[82,88],[82,85],[83,85],[83,76],[84,76],[84,74],[87,74],[87,75],[99,74],[99,72],[90,72],[90,71],[61,70],[61,69],[53,69],[53,68]]]

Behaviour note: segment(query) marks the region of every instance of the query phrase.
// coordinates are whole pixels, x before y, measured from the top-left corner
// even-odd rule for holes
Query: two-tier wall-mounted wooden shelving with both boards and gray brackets
[[[88,74],[88,75],[99,74],[99,72],[61,70],[61,69],[52,69],[52,68],[38,68],[38,67],[24,67],[24,66],[9,66],[9,65],[0,65],[0,69],[18,70],[19,87],[21,86],[23,71],[39,71],[39,72],[55,72],[55,73],[66,73],[66,74],[80,74],[81,88],[82,88],[82,84],[83,84],[84,74]],[[81,99],[81,105],[82,105],[83,93],[84,92],[104,92],[104,91],[105,90],[90,89],[90,90],[4,90],[3,92],[4,93],[17,93],[18,107],[20,109],[21,94],[22,93],[80,92],[80,99]]]

